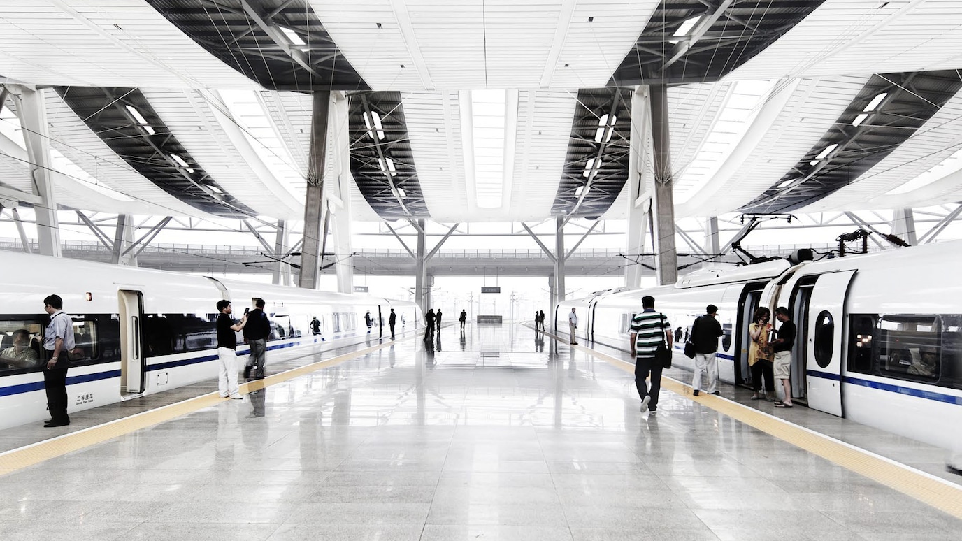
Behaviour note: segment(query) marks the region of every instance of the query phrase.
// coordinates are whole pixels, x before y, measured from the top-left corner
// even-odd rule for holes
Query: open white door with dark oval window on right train
[[[819,275],[808,301],[806,373],[808,406],[842,415],[842,330],[848,284],[855,270]],[[800,329],[799,329],[800,330]]]

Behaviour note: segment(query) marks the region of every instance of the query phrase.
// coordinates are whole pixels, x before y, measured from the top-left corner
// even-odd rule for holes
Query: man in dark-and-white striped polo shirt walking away
[[[655,351],[665,341],[671,351],[671,322],[663,314],[655,312],[655,297],[643,296],[641,314],[631,319],[631,354],[635,357],[635,387],[642,398],[642,411],[648,408],[651,415],[658,412],[658,392],[661,391],[661,373],[664,367],[655,361]],[[651,374],[651,390],[645,379]]]

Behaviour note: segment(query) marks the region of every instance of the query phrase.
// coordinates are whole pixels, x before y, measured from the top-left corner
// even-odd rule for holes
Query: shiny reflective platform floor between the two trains
[[[566,337],[567,338],[567,337]],[[958,539],[944,452],[524,325],[445,326],[0,431],[0,539]],[[213,369],[212,369],[213,370]],[[759,403],[761,402],[761,403]]]

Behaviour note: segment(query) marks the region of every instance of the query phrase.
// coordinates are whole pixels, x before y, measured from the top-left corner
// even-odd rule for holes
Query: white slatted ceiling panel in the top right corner
[[[822,77],[954,69],[962,4],[950,0],[826,0],[729,78]]]

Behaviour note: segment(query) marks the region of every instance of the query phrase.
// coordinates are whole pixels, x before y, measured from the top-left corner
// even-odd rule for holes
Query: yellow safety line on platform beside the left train
[[[417,333],[415,336],[417,336]],[[387,348],[397,344],[398,342],[403,342],[412,338],[414,338],[414,336],[405,337],[394,341],[389,340],[384,344],[358,349],[357,351],[350,353],[344,353],[343,355],[338,355],[337,357],[333,357],[326,361],[318,361],[316,363],[297,367],[280,374],[268,375],[264,379],[256,379],[254,381],[242,383],[240,385],[241,394],[246,395],[253,391],[259,391],[265,387],[269,387],[270,385],[283,383],[289,379],[293,379],[294,377],[310,374],[317,370],[329,368],[335,365],[340,365],[351,359],[367,355],[367,353],[377,351],[378,349]],[[44,460],[56,458],[57,456],[62,456],[68,452],[79,451],[89,446],[106,442],[107,440],[111,440],[118,436],[129,434],[135,430],[139,430],[140,428],[146,428],[147,426],[159,425],[161,423],[171,421],[183,415],[204,409],[205,407],[216,405],[217,403],[225,400],[229,399],[221,399],[217,396],[216,392],[207,395],[201,395],[200,397],[186,399],[159,407],[157,409],[138,413],[130,417],[117,419],[103,425],[90,426],[89,428],[84,428],[83,430],[64,434],[63,436],[49,440],[43,440],[36,444],[24,446],[12,451],[2,452],[0,453],[0,477],[6,476],[7,474],[11,474],[28,466],[33,466],[34,464],[38,464]]]

